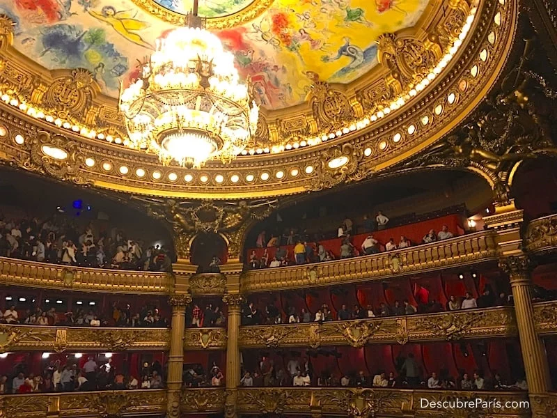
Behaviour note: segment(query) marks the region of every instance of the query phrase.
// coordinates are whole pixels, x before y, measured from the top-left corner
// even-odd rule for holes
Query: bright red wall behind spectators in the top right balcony
[[[373,236],[376,240],[381,242],[383,245],[389,241],[389,238],[394,238],[395,242],[400,240],[401,235],[405,235],[409,240],[411,240],[413,245],[421,244],[423,235],[425,235],[430,229],[434,229],[435,231],[439,231],[441,226],[447,225],[449,231],[454,233],[455,235],[462,235],[464,231],[462,230],[462,216],[461,215],[447,215],[444,217],[439,217],[437,219],[430,219],[424,222],[418,222],[416,224],[409,224],[404,226],[397,226],[391,229],[385,229],[384,231],[377,231],[373,233]],[[361,244],[363,240],[366,239],[368,236],[367,233],[354,235],[352,239],[352,244],[356,249],[361,249]],[[333,240],[322,240],[320,244],[322,244],[325,249],[330,250],[335,256],[340,256],[340,238],[335,238]],[[294,245],[285,246],[288,249],[288,256],[292,259],[294,254]],[[256,251],[256,256],[260,258],[263,255],[265,249],[263,248],[252,248],[249,249],[247,254],[249,258],[249,254],[251,251]],[[276,247],[267,247],[267,252],[269,253],[269,261],[272,260],[274,257],[274,253],[276,251]]]

